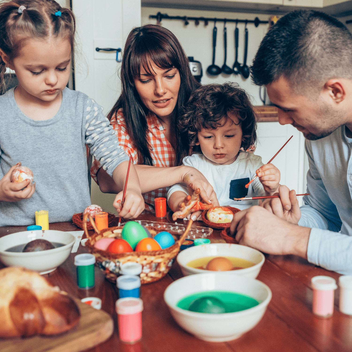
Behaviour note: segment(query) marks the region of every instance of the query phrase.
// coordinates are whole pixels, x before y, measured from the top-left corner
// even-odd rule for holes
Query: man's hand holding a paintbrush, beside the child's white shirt
[[[286,220],[291,224],[298,224],[301,218],[301,210],[295,190],[290,191],[287,186],[280,186],[279,196],[279,198],[266,199],[260,206],[280,219]]]

